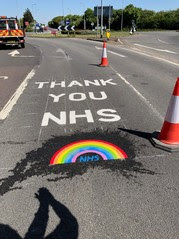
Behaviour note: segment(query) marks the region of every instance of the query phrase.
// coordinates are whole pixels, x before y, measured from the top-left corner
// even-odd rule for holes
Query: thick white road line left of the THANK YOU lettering
[[[35,69],[32,69],[31,72],[26,76],[25,80],[21,83],[21,85],[17,88],[16,92],[11,96],[7,104],[0,112],[0,120],[6,119],[9,113],[11,112],[13,106],[17,103],[19,97],[22,95],[23,91],[25,90],[29,80],[33,78],[35,75]]]

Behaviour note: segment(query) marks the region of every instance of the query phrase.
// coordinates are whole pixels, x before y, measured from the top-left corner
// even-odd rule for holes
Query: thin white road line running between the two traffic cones
[[[128,85],[138,96],[139,98],[153,111],[153,113],[155,113],[158,118],[163,121],[164,118],[163,116],[156,110],[155,107],[153,107],[153,105],[133,86],[131,85],[121,74],[119,74],[113,67],[111,67],[111,69],[113,69],[113,71],[116,73],[116,75],[124,81],[124,83],[126,85]]]

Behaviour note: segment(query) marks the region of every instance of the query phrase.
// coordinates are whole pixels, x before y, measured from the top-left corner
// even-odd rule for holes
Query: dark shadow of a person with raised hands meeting
[[[35,197],[39,200],[39,209],[35,214],[24,239],[77,239],[78,222],[67,207],[58,202],[46,189],[40,188]],[[45,237],[49,219],[49,206],[52,207],[60,222],[55,230]],[[0,224],[0,239],[22,239],[19,234],[7,225]]]

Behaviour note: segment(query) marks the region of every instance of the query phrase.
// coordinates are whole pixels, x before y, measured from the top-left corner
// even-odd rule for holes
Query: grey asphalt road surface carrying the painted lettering
[[[149,139],[179,76],[179,33],[107,49],[109,67],[102,43],[81,39],[0,51],[0,238],[178,238],[179,153]],[[96,156],[50,165],[84,140],[100,142]],[[100,158],[115,146],[126,159]]]

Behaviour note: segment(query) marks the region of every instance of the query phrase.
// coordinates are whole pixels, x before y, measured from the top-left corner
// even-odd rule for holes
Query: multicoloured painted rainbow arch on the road
[[[97,154],[103,160],[128,158],[127,154],[116,145],[102,140],[80,140],[68,144],[58,150],[50,160],[50,164],[75,163],[84,154]]]

